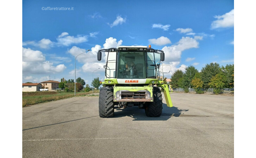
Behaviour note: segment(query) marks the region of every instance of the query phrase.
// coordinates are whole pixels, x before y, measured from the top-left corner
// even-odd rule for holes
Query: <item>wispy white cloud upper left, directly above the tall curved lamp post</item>
[[[76,37],[74,36],[68,36],[66,32],[61,33],[60,37],[57,38],[57,45],[58,46],[69,46],[71,44],[78,44],[78,43],[83,43],[88,41],[88,36],[82,36],[82,35],[77,35]]]

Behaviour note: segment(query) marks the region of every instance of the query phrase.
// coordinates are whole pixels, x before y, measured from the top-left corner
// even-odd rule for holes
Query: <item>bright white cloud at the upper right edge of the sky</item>
[[[234,27],[234,9],[223,15],[216,15],[215,20],[211,23],[211,29]]]

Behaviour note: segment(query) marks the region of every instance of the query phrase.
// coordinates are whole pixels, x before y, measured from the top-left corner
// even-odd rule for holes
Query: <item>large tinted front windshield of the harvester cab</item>
[[[146,78],[146,53],[120,52],[117,78]]]

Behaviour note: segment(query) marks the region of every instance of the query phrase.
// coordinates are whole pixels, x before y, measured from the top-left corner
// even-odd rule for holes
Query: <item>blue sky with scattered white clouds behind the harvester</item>
[[[73,10],[42,10],[67,7]],[[23,83],[104,78],[99,49],[152,45],[179,66],[234,63],[233,1],[23,1]],[[48,8],[49,9],[49,8]],[[182,69],[182,68],[179,68]],[[183,70],[183,69],[182,69]]]

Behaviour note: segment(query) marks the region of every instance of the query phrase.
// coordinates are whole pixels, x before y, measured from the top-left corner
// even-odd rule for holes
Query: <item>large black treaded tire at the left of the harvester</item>
[[[99,115],[100,117],[114,116],[113,91],[106,87],[100,88],[99,95]]]

